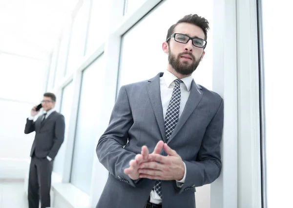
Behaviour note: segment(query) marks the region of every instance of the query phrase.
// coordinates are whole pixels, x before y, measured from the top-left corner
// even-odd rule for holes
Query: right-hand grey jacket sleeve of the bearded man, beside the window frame
[[[220,142],[223,132],[224,104],[221,99],[215,116],[210,121],[196,161],[184,161],[186,164],[186,180],[180,192],[193,187],[210,184],[221,172]],[[175,183],[174,183],[175,184]],[[175,186],[178,189],[178,186]]]

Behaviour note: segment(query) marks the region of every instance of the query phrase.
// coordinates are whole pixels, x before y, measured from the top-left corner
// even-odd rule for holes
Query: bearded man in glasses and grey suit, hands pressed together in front
[[[208,29],[185,16],[163,43],[167,70],[121,87],[96,148],[110,173],[97,208],[195,208],[195,187],[220,175],[223,99],[191,76]]]

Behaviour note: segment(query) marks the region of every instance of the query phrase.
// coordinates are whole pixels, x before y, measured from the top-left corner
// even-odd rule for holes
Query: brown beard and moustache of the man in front
[[[188,61],[183,61],[183,63],[180,62],[180,57],[184,54],[188,54],[192,57],[193,63],[189,64]],[[175,55],[172,54],[171,51],[168,53],[168,61],[169,64],[177,73],[180,73],[182,75],[189,75],[192,74],[193,71],[198,67],[200,60],[196,60],[194,55],[190,52],[182,52],[179,53],[177,58],[175,58]]]

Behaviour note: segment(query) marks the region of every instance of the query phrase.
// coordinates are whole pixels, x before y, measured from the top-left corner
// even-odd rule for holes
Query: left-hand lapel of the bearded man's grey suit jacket
[[[161,100],[161,90],[160,90],[160,77],[163,73],[159,73],[154,78],[148,80],[146,85],[146,90],[149,96],[151,106],[153,108],[160,132],[162,134],[163,140],[166,142],[165,124],[163,117],[163,107]]]

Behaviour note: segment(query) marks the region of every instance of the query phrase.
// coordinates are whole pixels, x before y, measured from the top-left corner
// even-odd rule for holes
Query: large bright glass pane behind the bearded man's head
[[[167,68],[167,54],[162,43],[168,28],[188,14],[198,14],[209,21],[206,54],[192,74],[197,84],[212,89],[212,0],[167,0],[135,24],[122,38],[118,89],[122,85],[154,77]],[[188,6],[186,6],[188,5]],[[170,15],[170,11],[176,11]],[[160,22],[160,23],[158,23]],[[152,38],[149,38],[152,37]],[[153,38],[155,37],[155,38]],[[139,46],[139,47],[138,47]],[[210,185],[196,188],[196,206],[210,207]]]

